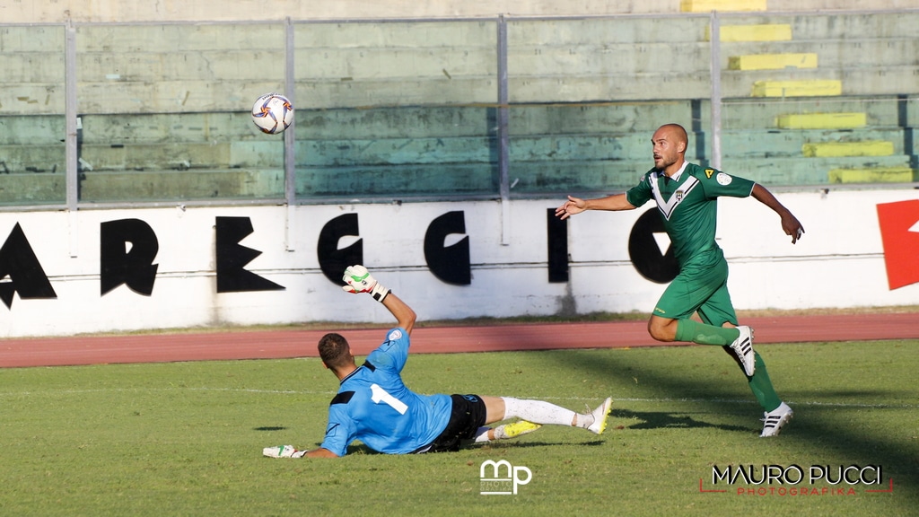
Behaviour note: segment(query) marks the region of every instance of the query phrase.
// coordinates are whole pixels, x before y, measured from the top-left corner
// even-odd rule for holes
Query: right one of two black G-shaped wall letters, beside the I
[[[434,276],[447,283],[469,285],[472,272],[469,259],[469,236],[445,247],[450,234],[465,234],[466,221],[461,211],[448,212],[427,226],[425,233],[425,260]]]

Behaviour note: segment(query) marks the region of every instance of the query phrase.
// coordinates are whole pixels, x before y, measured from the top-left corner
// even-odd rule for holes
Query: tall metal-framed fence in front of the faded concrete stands
[[[916,178],[919,10],[0,25],[0,203],[623,190],[665,122],[772,188]],[[249,109],[285,93],[295,123]]]

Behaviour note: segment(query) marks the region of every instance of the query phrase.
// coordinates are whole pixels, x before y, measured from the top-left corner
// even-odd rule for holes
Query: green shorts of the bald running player
[[[728,293],[728,261],[724,257],[711,266],[685,266],[654,307],[654,316],[673,319],[688,319],[696,312],[708,325],[737,325]]]

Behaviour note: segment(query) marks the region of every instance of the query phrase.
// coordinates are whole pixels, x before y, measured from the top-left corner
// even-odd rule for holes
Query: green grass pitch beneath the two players
[[[613,396],[607,432],[546,426],[454,454],[357,445],[337,460],[261,456],[264,446],[322,440],[337,383],[316,359],[0,370],[0,514],[914,514],[919,341],[757,350],[796,413],[775,439],[758,438],[760,409],[716,347],[414,355],[403,376],[422,393],[575,410]],[[532,478],[516,495],[482,495],[487,460]],[[826,467],[834,478],[875,466],[882,479],[713,483],[713,467],[729,465],[757,477],[764,465],[805,476]]]

